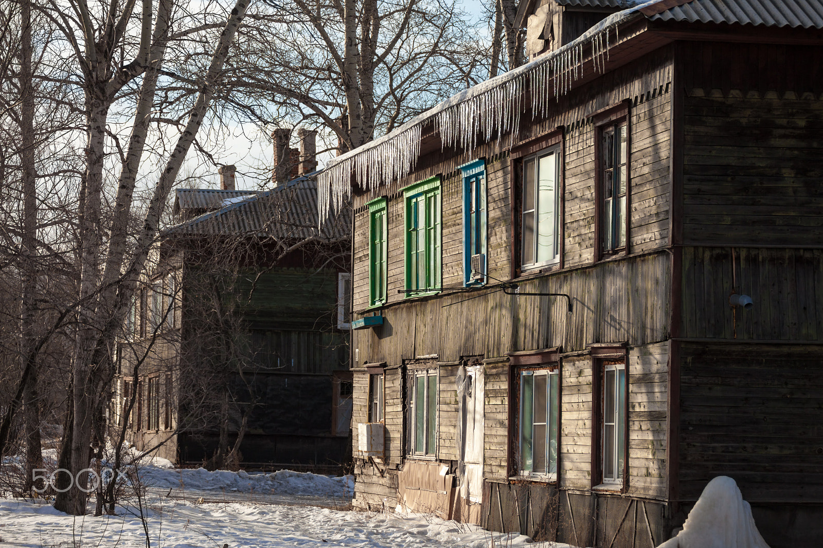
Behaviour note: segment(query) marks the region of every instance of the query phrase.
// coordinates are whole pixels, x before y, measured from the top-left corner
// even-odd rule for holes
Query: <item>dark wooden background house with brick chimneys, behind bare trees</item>
[[[350,216],[318,230],[310,175],[266,192],[231,179],[180,189],[174,212],[119,345],[115,423],[137,387],[139,449],[228,466],[215,450],[242,434],[247,467],[339,470],[351,458]]]

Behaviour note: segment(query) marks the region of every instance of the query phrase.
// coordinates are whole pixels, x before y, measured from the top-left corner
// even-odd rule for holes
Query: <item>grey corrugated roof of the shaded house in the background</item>
[[[213,192],[213,191],[206,191]],[[166,231],[167,235],[252,235],[277,239],[347,239],[351,216],[346,209],[323,223],[318,230],[317,182],[309,177],[264,192],[223,195],[221,207],[184,221]],[[193,193],[195,194],[195,193]],[[204,194],[203,196],[207,196]]]

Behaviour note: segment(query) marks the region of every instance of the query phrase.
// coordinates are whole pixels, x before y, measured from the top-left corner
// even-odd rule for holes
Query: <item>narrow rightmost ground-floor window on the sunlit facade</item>
[[[603,366],[603,483],[623,481],[625,465],[625,363]]]

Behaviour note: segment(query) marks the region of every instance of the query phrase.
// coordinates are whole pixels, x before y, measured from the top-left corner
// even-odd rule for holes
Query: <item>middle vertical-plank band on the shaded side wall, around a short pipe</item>
[[[683,337],[823,341],[823,249],[686,247],[682,257]],[[729,304],[735,278],[751,310]]]

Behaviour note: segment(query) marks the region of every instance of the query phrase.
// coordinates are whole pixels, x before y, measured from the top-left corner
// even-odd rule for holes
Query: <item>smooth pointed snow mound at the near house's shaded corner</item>
[[[658,548],[769,548],[732,478],[709,481],[683,530]]]

